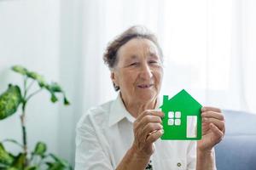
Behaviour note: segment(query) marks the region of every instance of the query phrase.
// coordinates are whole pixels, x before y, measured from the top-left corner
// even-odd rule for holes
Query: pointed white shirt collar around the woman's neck
[[[155,109],[159,109],[161,98],[158,97],[157,104],[155,105]],[[131,116],[131,114],[125,109],[125,105],[123,100],[121,99],[121,95],[117,96],[115,100],[113,100],[112,105],[110,106],[110,115],[108,120],[108,126],[111,127],[115,123],[121,121],[122,119],[126,118],[129,122],[133,123],[136,118]]]

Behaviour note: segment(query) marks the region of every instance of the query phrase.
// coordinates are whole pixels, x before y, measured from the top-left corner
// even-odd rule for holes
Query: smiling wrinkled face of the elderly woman
[[[156,99],[163,77],[162,61],[154,42],[133,38],[118,51],[112,80],[125,103],[148,103]]]

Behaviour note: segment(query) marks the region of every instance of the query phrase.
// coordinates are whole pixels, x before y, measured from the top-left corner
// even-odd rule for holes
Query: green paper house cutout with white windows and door
[[[168,99],[163,97],[161,110],[165,113],[162,120],[164,140],[201,139],[201,105],[184,89]]]

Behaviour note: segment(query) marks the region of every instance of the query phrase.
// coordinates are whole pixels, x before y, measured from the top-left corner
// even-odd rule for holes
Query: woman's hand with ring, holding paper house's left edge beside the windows
[[[146,110],[137,116],[133,123],[134,142],[131,149],[138,156],[150,157],[154,153],[153,143],[163,134],[163,116],[163,112],[155,110]]]

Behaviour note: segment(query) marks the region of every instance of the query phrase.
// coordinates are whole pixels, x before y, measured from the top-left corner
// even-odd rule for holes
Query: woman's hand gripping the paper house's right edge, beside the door
[[[202,107],[202,139],[197,142],[197,150],[201,152],[212,151],[225,133],[224,116],[220,109],[214,107]]]

